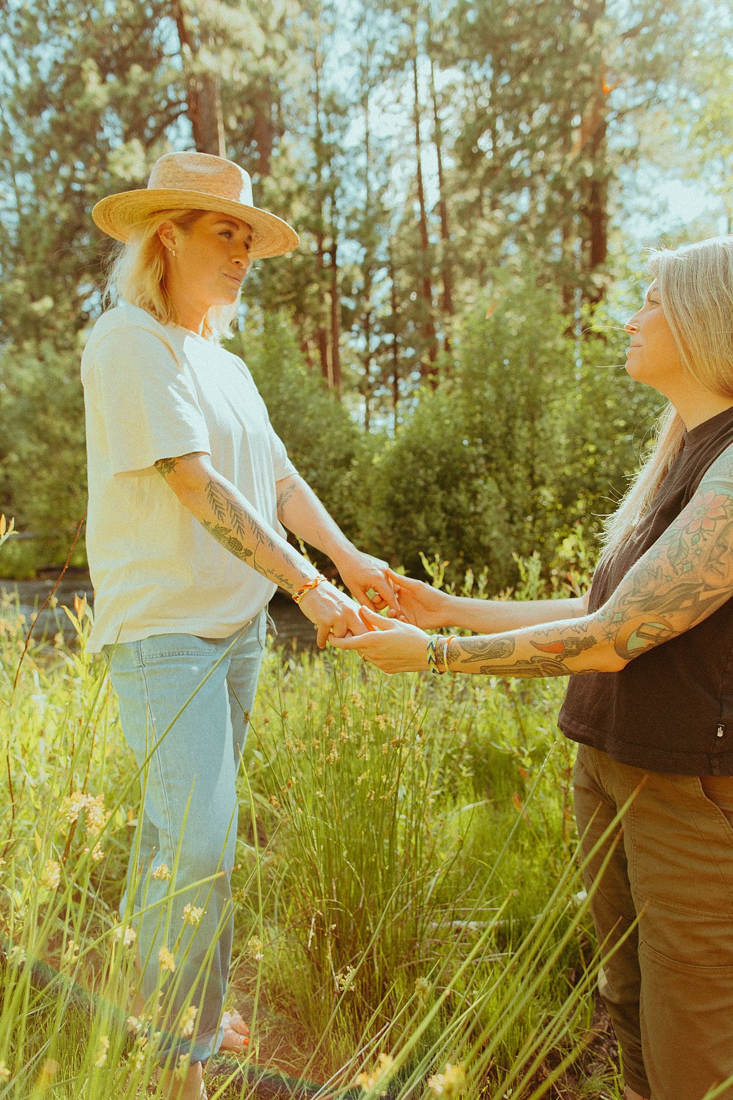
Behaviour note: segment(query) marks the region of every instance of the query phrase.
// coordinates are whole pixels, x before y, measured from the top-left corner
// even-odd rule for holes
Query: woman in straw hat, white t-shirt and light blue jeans
[[[159,968],[171,971],[157,1025],[164,1090],[198,1097],[202,1062],[247,1042],[223,1004],[235,778],[267,603],[277,585],[289,592],[320,646],[364,629],[359,604],[288,546],[285,528],[326,553],[360,603],[398,603],[386,563],[345,538],[290,462],[247,367],[220,342],[249,264],[295,249],[293,230],[253,205],[238,165],[202,153],[160,157],[146,189],[103,199],[92,218],[123,242],[107,288],[116,304],[81,361],[88,649],[110,661],[144,777],[120,915],[137,933],[137,1004],[159,989]]]

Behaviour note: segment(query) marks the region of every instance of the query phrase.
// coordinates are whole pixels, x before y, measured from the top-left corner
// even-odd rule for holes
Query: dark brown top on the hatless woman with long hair
[[[606,603],[732,443],[733,408],[686,432],[649,510],[596,571],[589,612]],[[733,598],[621,672],[570,676],[557,725],[620,763],[684,776],[733,776]]]

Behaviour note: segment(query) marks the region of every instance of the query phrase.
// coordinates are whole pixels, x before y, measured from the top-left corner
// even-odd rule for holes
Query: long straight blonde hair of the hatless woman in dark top
[[[733,399],[733,237],[679,249],[655,249],[648,272],[684,369],[696,382]],[[612,557],[648,509],[682,449],[685,421],[671,403],[659,416],[651,453],[604,526],[602,558]]]

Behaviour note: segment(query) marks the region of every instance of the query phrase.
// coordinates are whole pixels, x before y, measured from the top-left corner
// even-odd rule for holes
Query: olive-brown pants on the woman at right
[[[603,954],[599,990],[628,1086],[652,1100],[702,1100],[733,1077],[733,779],[673,776],[578,747],[582,849],[635,793],[586,872]],[[733,1100],[733,1085],[721,1092]]]

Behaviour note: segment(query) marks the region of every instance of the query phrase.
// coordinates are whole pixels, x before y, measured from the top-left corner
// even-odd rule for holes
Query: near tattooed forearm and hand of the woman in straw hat
[[[178,499],[209,534],[240,561],[293,595],[318,575],[302,554],[288,546],[240,491],[211,465],[206,452],[159,459],[156,469]],[[318,627],[321,648],[331,631],[336,637],[363,634],[358,604],[327,582],[300,601],[304,615]]]

